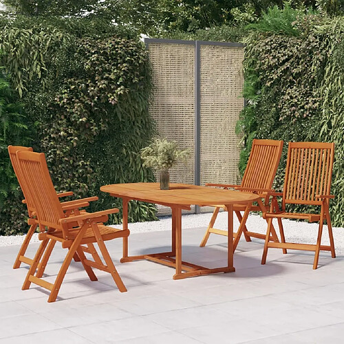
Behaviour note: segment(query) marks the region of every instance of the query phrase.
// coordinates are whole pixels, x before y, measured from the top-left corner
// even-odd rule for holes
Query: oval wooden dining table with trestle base
[[[128,255],[128,238],[123,238],[122,263],[147,259],[155,263],[175,268],[173,279],[184,279],[198,275],[209,275],[218,272],[234,272],[233,266],[233,204],[246,204],[243,221],[244,226],[250,212],[252,202],[259,195],[241,191],[214,189],[206,186],[189,184],[170,184],[169,190],[160,190],[158,183],[127,183],[101,186],[100,190],[113,197],[122,198],[122,226],[128,229],[128,203],[131,200],[149,202],[169,206],[172,211],[172,243],[170,252],[149,255]],[[210,206],[224,204],[228,211],[228,254],[227,266],[206,268],[182,260],[182,210],[190,210],[191,205]]]

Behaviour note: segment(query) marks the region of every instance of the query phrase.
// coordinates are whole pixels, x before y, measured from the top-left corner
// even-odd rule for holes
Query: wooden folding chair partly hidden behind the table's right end
[[[266,211],[270,210],[270,195],[273,191],[271,189],[272,182],[274,181],[277,168],[279,166],[282,149],[283,141],[255,139],[252,142],[250,157],[248,158],[244,177],[242,178],[242,182],[240,185],[207,183],[206,186],[218,186],[224,189],[235,189],[238,191],[258,193],[259,195],[261,195],[261,198],[264,199],[264,202],[262,200],[259,200],[256,206],[251,206],[250,211],[261,211],[262,213],[266,213]],[[279,209],[275,196],[272,197],[271,204],[273,208],[277,210]],[[201,247],[206,245],[206,242],[208,241],[211,233],[226,236],[228,235],[226,230],[213,228],[215,220],[217,218],[217,214],[219,213],[219,210],[221,208],[224,208],[224,210],[226,210],[223,205],[215,206],[213,216],[211,217],[211,221],[208,224],[208,228],[206,229],[206,233],[200,244]],[[244,233],[246,241],[251,241],[250,237],[265,239],[266,235],[247,230],[245,224],[249,210],[248,208],[246,208],[245,205],[234,204],[233,209],[240,223],[237,233],[234,233],[234,250],[235,248],[237,248],[237,244],[239,243],[239,239],[242,233]],[[241,216],[241,211],[244,211],[244,216]],[[281,241],[283,241],[284,235],[281,221],[279,221],[279,231],[281,234]],[[273,227],[271,228],[271,237],[269,237],[269,239],[279,242],[279,239]]]

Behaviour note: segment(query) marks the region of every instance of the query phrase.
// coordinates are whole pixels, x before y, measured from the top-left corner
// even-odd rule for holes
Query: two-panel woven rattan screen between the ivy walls
[[[196,62],[195,42],[151,40],[148,43],[153,73],[151,116],[162,137],[191,149],[185,165],[171,170],[171,182],[194,184],[199,168],[200,184],[238,182],[240,138],[235,134],[239,113],[244,107],[243,47],[226,43],[200,43],[200,64]],[[197,98],[200,78],[200,98]],[[197,128],[196,104],[200,106],[200,166],[195,166]],[[159,180],[158,173],[155,174]],[[170,209],[158,207],[160,215]],[[208,211],[209,208],[205,208]]]

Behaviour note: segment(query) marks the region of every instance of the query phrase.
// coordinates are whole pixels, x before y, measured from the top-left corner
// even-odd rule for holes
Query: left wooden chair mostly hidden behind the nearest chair
[[[36,212],[34,209],[33,200],[30,199],[30,196],[28,195],[28,187],[25,185],[25,180],[21,177],[21,173],[19,169],[19,161],[17,158],[17,151],[33,151],[33,149],[31,147],[23,147],[23,146],[8,146],[8,153],[10,155],[12,167],[13,167],[15,175],[17,176],[17,180],[19,182],[19,186],[21,187],[21,191],[23,191],[23,195],[25,197],[25,200],[23,200],[23,203],[25,203],[26,206],[28,207],[28,215],[29,215],[28,224],[30,226],[28,233],[25,236],[25,239],[23,241],[23,244],[21,245],[21,248],[18,252],[17,258],[14,261],[14,266],[13,266],[14,269],[19,268],[21,266],[21,263],[25,263],[28,265],[32,264],[33,260],[30,259],[29,257],[25,257],[25,252],[28,249],[28,245],[30,244],[32,235],[34,235],[38,226],[37,222],[34,219]],[[72,191],[57,194],[59,198],[72,196],[72,195],[73,195]],[[96,200],[98,200],[98,197],[88,197],[82,200],[64,202],[63,210],[65,211],[66,215],[79,215],[80,214],[79,208],[89,206],[89,202],[96,201]],[[53,248],[54,248],[53,243],[51,243],[50,252]],[[43,259],[43,262],[49,259],[49,257],[47,256],[48,252],[49,250],[46,252],[45,259]],[[74,260],[80,261],[78,259],[78,255],[75,255]],[[40,269],[39,269],[39,275],[41,274],[43,274],[43,265],[40,266]]]

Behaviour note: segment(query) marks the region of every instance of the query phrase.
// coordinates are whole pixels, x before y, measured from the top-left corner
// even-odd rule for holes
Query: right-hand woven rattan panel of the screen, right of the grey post
[[[201,45],[200,183],[233,184],[239,176],[240,138],[235,134],[244,107],[244,50]]]

